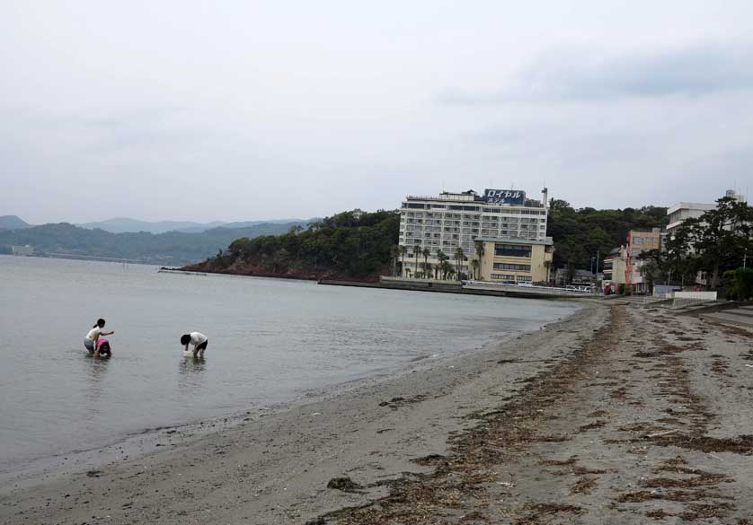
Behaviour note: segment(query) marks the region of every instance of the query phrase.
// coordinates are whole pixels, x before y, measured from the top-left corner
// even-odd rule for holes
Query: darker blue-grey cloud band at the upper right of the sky
[[[446,92],[448,104],[591,101],[703,96],[753,89],[753,45],[695,45],[660,53],[598,57],[592,48],[552,51],[513,75],[501,90]]]

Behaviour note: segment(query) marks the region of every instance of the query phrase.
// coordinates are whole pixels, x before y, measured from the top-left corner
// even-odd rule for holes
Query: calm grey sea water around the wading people
[[[0,468],[296,398],[568,315],[567,303],[0,256]],[[84,351],[107,319],[113,359]],[[181,334],[209,338],[182,356]]]

